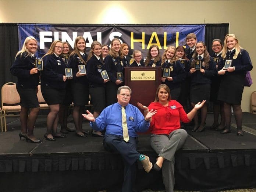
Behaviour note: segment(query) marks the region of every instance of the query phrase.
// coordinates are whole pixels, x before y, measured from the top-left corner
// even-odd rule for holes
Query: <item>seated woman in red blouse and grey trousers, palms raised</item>
[[[162,169],[163,182],[167,192],[172,192],[174,188],[175,152],[184,145],[188,135],[184,129],[180,129],[180,121],[185,123],[191,121],[197,110],[204,104],[205,100],[197,103],[186,114],[181,104],[176,100],[171,100],[170,89],[165,84],[159,85],[155,100],[150,103],[149,107],[138,103],[138,106],[144,110],[145,116],[152,109],[157,111],[150,119],[150,145],[159,154],[154,164],[154,170]]]

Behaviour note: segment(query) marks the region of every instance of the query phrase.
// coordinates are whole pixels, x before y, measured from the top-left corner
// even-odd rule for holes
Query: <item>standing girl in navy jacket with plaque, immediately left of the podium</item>
[[[117,102],[117,89],[124,84],[117,79],[117,72],[122,72],[124,77],[124,67],[128,67],[123,60],[121,42],[114,38],[111,41],[109,55],[105,58],[105,67],[110,81],[106,83],[106,106]]]

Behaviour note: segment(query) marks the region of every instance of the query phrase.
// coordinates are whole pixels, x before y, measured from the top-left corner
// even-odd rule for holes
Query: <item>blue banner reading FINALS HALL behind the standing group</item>
[[[38,40],[41,58],[54,40],[70,43],[74,47],[77,36],[86,39],[86,52],[94,40],[110,45],[113,38],[118,38],[129,46],[129,55],[134,50],[141,50],[143,57],[151,45],[158,45],[160,54],[168,46],[186,46],[186,35],[195,33],[198,41],[205,41],[205,25],[67,25],[67,24],[18,24],[19,49],[27,36]]]

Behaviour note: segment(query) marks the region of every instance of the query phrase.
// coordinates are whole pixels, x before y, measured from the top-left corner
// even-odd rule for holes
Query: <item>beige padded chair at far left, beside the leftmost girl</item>
[[[2,97],[1,117],[4,117],[4,127],[5,127],[5,131],[7,131],[6,112],[21,111],[21,106],[19,105],[21,99],[19,98],[19,94],[16,89],[16,83],[12,83],[12,82],[5,83],[1,89],[1,97]]]

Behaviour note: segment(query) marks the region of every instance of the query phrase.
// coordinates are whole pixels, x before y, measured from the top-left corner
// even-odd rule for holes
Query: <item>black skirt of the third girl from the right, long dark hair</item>
[[[191,84],[190,88],[190,102],[191,103],[198,103],[206,100],[206,103],[209,102],[210,99],[210,84]]]

